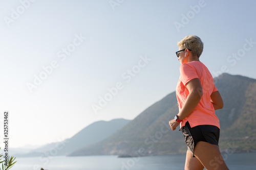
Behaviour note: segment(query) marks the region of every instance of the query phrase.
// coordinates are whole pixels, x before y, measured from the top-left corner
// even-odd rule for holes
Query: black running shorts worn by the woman
[[[193,128],[190,127],[189,123],[186,122],[185,126],[181,128],[182,133],[185,137],[185,142],[187,144],[187,149],[192,152],[194,156],[194,149],[197,142],[205,141],[210,144],[219,143],[220,129],[212,125],[199,125]]]

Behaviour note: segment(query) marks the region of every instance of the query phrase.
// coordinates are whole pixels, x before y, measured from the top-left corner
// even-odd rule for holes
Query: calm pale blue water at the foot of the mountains
[[[256,169],[256,153],[223,155],[229,169]],[[117,158],[117,156],[16,158],[12,170],[158,170],[184,169],[185,155]]]

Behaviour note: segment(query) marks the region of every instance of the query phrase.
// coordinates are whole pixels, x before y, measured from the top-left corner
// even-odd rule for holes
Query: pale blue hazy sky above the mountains
[[[255,1],[0,2],[0,127],[9,111],[10,148],[134,119],[175,91],[187,35],[204,42],[200,61],[213,77],[256,79]]]

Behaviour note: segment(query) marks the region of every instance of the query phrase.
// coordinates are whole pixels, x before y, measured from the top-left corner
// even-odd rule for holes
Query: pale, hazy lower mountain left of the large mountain
[[[26,155],[18,155],[20,156],[33,156],[38,154],[45,155],[44,153],[50,152],[54,155],[67,155],[71,152],[74,152],[80,148],[87,147],[88,145],[97,143],[104,138],[112,135],[117,130],[121,129],[123,126],[125,126],[127,123],[129,123],[131,120],[126,119],[113,119],[109,122],[105,122],[103,120],[99,122],[95,122],[85,128],[83,128],[81,131],[79,131],[77,134],[75,134],[73,137],[60,141],[60,142],[54,142],[50,144],[46,144],[38,149],[35,149],[31,151],[30,153]]]

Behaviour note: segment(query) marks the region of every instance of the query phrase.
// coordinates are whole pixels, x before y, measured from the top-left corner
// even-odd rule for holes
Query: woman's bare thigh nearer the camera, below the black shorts
[[[221,156],[220,149],[216,144],[199,141],[194,149],[194,155],[207,170],[228,169]]]

